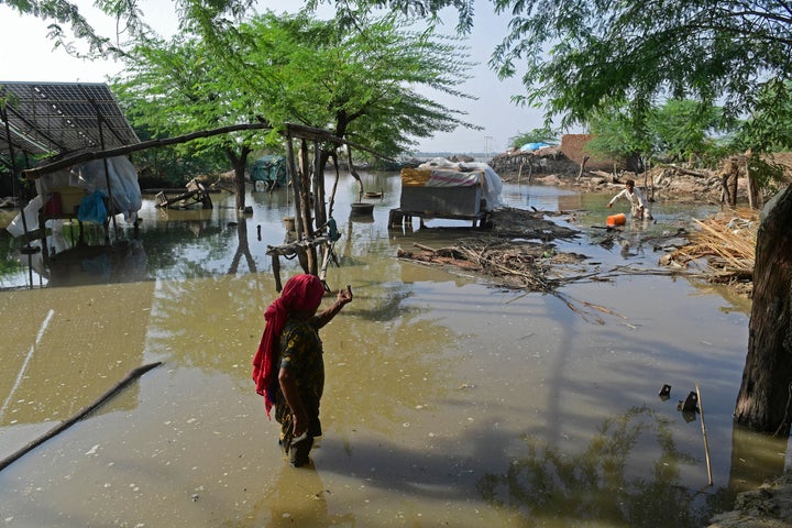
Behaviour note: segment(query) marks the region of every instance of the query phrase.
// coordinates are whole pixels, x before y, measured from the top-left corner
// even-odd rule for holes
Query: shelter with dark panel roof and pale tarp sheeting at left
[[[81,153],[140,143],[106,84],[2,81],[0,100],[0,155],[14,177],[22,158],[25,165],[31,157],[63,164],[61,172],[30,178],[37,195],[26,205],[19,202],[20,215],[9,226],[12,234],[25,237],[30,252],[42,251],[46,258],[51,220],[78,221],[80,234],[82,221],[97,222],[105,227],[106,242],[116,215],[136,221],[142,200],[130,161],[120,155],[77,161]],[[41,248],[30,243],[35,231]]]

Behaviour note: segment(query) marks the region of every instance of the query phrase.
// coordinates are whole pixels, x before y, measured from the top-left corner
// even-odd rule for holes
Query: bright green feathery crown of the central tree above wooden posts
[[[463,112],[418,91],[470,97],[457,89],[472,66],[457,38],[431,29],[407,31],[393,16],[344,31],[338,20],[307,13],[266,13],[243,24],[239,34],[272,123],[330,129],[388,156],[416,145],[415,138],[475,128],[462,120]],[[322,168],[330,153],[322,153]]]

